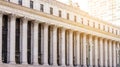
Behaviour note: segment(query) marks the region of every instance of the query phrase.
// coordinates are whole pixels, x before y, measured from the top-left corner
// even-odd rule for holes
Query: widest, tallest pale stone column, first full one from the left
[[[16,17],[15,15],[10,15],[9,22],[9,49],[10,49],[10,63],[15,63],[15,25]]]

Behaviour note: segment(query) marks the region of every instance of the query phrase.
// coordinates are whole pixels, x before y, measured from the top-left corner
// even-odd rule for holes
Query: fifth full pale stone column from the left
[[[57,66],[57,27],[53,27],[53,65]]]

